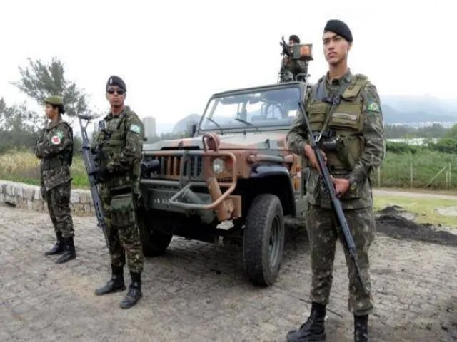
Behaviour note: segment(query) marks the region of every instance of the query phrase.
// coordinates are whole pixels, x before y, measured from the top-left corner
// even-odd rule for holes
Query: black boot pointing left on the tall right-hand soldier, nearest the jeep
[[[326,331],[324,319],[326,318],[326,306],[313,302],[311,314],[300,329],[287,333],[288,342],[313,342],[325,341]]]

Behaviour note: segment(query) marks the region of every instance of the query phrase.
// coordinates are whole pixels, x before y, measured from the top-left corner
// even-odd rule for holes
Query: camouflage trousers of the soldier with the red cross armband
[[[44,189],[44,188],[43,188]],[[42,191],[41,195],[48,204],[49,216],[55,232],[61,232],[62,237],[74,237],[73,219],[70,210],[71,182],[65,182],[53,187],[51,190]]]

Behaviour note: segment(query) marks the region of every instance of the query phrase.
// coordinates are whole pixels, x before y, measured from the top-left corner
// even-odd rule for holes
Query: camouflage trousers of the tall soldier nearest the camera
[[[311,300],[324,305],[328,304],[333,281],[336,240],[340,239],[345,246],[344,252],[348,266],[348,310],[357,316],[371,314],[373,312],[373,298],[371,296],[368,249],[373,242],[376,229],[373,208],[346,209],[344,214],[356,244],[358,266],[361,269],[361,276],[368,293],[363,291],[358,283],[356,269],[346,251],[344,237],[336,224],[333,211],[309,205],[306,212],[306,227],[311,244],[311,267],[313,271]]]

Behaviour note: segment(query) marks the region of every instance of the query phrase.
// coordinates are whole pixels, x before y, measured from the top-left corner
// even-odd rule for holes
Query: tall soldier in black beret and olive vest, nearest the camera
[[[307,95],[306,110],[313,133],[321,134],[318,144],[325,154],[333,186],[356,244],[361,276],[358,283],[348,252],[348,309],[354,315],[354,340],[368,341],[368,314],[373,312],[368,249],[375,233],[371,174],[380,167],[385,151],[383,116],[375,86],[366,76],[353,75],[347,66],[352,34],[342,21],[328,21],[323,33],[323,52],[329,71]],[[333,280],[336,240],[343,242],[329,198],[323,192],[316,156],[307,144],[310,132],[299,114],[288,133],[290,149],[305,155],[311,166],[307,182],[306,227],[311,244],[311,315],[288,341],[323,341],[324,318]]]

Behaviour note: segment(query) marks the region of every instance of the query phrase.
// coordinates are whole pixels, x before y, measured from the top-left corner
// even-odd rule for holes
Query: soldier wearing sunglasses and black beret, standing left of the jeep
[[[104,219],[108,226],[111,280],[95,294],[100,296],[124,291],[124,264],[129,265],[131,284],[121,301],[121,308],[134,306],[141,299],[143,251],[136,218],[139,196],[139,174],[144,127],[139,117],[124,105],[126,84],[111,76],[106,83],[106,98],[111,112],[101,121],[92,147],[98,169],[94,172],[100,184]]]

